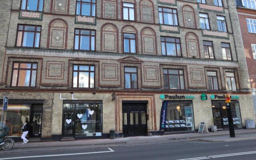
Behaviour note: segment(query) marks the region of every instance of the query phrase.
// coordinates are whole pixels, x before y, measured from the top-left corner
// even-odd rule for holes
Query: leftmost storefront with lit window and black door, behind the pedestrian
[[[0,108],[2,110],[2,108]],[[4,111],[4,120],[10,122],[10,136],[22,135],[22,127],[26,120],[30,122],[29,137],[41,137],[43,102],[34,100],[10,100]],[[0,113],[0,116],[2,112]]]

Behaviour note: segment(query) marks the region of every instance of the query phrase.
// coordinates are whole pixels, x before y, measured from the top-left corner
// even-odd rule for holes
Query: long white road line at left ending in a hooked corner
[[[20,159],[20,158],[36,158],[36,157],[54,157],[54,156],[71,156],[71,155],[82,155],[82,154],[94,154],[94,153],[108,153],[115,152],[111,148],[108,148],[109,151],[100,151],[100,152],[86,152],[86,153],[72,153],[72,154],[53,154],[53,155],[43,155],[43,156],[27,156],[27,157],[12,157],[12,158],[0,158],[0,160],[11,160],[11,159]]]

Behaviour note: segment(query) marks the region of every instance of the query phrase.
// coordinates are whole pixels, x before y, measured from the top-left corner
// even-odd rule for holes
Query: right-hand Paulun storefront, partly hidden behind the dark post
[[[228,128],[228,114],[224,95],[211,95],[214,126],[218,129]],[[230,108],[233,116],[234,128],[242,128],[242,118],[239,105],[239,96],[231,96]]]

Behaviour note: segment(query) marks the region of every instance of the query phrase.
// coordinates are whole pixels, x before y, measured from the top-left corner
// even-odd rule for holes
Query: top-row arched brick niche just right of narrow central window
[[[154,23],[154,6],[150,0],[140,1],[140,22]]]

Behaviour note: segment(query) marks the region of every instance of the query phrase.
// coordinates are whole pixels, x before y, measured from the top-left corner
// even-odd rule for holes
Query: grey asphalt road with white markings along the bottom
[[[48,149],[48,150],[47,150]],[[142,146],[74,146],[0,152],[0,160],[256,160],[256,140],[179,142]]]

